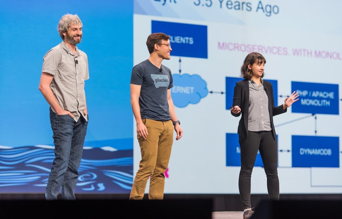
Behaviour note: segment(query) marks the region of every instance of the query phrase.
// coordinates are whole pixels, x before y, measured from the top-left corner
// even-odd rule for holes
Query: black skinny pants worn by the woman
[[[240,139],[241,169],[239,175],[239,192],[244,209],[251,208],[251,175],[260,152],[267,177],[269,199],[279,200],[278,146],[272,131],[248,131],[247,139]]]

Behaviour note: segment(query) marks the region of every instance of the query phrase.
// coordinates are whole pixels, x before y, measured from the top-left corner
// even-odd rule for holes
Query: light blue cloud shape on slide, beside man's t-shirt
[[[197,104],[208,94],[207,82],[199,75],[172,74],[172,78],[171,97],[177,107],[186,107],[189,103]]]

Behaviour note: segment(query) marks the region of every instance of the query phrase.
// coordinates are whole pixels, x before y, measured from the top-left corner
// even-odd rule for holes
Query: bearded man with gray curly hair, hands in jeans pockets
[[[39,90],[50,105],[55,158],[45,198],[74,200],[88,111],[84,81],[89,79],[88,57],[76,46],[82,39],[82,22],[77,15],[65,14],[58,23],[62,42],[43,57]]]

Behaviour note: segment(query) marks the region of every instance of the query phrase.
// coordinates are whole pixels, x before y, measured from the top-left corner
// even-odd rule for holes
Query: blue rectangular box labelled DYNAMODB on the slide
[[[340,167],[339,137],[292,136],[292,167]]]

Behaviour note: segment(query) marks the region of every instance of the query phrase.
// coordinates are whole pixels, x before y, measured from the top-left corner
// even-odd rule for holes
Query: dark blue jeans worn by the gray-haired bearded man
[[[69,115],[57,115],[50,108],[50,122],[55,145],[55,159],[45,190],[47,200],[56,200],[62,187],[63,200],[75,200],[78,167],[81,163],[88,121],[77,122]]]

